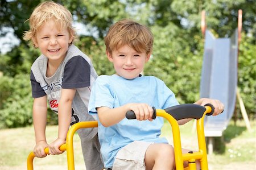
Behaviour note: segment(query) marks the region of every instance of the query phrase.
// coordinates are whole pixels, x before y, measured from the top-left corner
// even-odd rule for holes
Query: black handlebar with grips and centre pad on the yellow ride
[[[209,110],[207,110],[207,106],[210,107]],[[155,107],[152,107],[152,109],[153,109],[152,119],[155,119],[158,109],[155,109]],[[201,117],[203,117],[205,111],[207,111],[206,115],[212,115],[214,113],[214,107],[210,103],[207,103],[204,106],[200,106],[196,104],[183,104],[183,105],[168,107],[164,109],[164,111],[166,111],[166,113],[172,115],[172,117],[174,117],[177,121],[179,121],[180,119],[185,119],[185,118],[200,119]],[[136,119],[136,115],[134,111],[133,110],[127,111],[126,118]]]

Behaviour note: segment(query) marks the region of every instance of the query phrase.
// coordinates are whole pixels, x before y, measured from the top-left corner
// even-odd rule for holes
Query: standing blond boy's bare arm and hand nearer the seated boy
[[[61,97],[58,105],[59,134],[58,138],[49,144],[49,154],[61,154],[59,150],[61,144],[66,141],[66,136],[71,122],[72,101],[75,96],[76,89],[62,89]]]

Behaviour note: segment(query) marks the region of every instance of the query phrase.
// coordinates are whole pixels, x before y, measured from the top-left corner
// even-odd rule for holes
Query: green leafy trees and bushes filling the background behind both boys
[[[0,55],[0,128],[32,123],[30,67],[40,55],[22,39],[28,30],[25,22],[43,1],[0,2],[0,36],[3,28],[13,28],[20,44]],[[237,28],[238,9],[243,10],[243,36],[238,61],[238,86],[250,114],[255,113],[255,1],[254,0],[63,0],[74,21],[87,30],[76,45],[88,55],[98,74],[113,74],[105,55],[104,36],[110,25],[131,18],[151,28],[154,49],[144,74],[161,78],[175,92],[180,103],[199,99],[204,40],[201,36],[201,11],[206,11],[209,30],[217,37],[229,37]],[[251,68],[251,69],[248,69]],[[50,114],[51,115],[51,114]],[[49,119],[56,119],[50,116]],[[51,121],[51,120],[49,120]]]

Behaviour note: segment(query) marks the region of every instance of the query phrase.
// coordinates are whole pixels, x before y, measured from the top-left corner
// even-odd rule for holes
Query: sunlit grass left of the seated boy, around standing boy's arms
[[[57,137],[57,126],[47,126],[47,139],[49,142]],[[34,148],[34,128],[11,128],[0,130],[0,169],[1,170],[20,170],[27,169],[27,156]],[[74,154],[76,169],[85,169],[82,157],[80,139],[77,134],[74,136]],[[67,169],[67,156],[49,155],[43,159],[35,157],[34,170],[39,169]]]

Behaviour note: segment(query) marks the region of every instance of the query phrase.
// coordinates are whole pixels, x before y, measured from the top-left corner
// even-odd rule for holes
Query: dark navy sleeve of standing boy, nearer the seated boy
[[[81,56],[70,59],[64,68],[63,89],[78,89],[90,86],[90,64]]]

